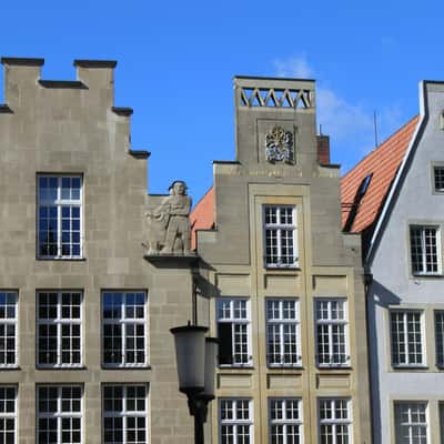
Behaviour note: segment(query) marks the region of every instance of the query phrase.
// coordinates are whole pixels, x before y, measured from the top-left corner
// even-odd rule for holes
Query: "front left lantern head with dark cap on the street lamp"
[[[170,330],[174,335],[178,363],[179,390],[199,393],[204,389],[205,377],[205,326],[185,325]]]

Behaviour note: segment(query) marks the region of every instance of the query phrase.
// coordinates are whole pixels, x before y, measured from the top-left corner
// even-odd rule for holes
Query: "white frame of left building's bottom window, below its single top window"
[[[40,412],[40,389],[57,389],[57,412]],[[63,389],[80,389],[80,412],[63,412],[62,411],[62,391]],[[40,427],[39,420],[56,420],[57,421],[57,444],[62,444],[62,420],[63,418],[80,418],[80,442],[84,442],[83,436],[83,385],[81,384],[38,384],[37,385],[37,444],[40,443]],[[72,398],[71,398],[72,403]]]

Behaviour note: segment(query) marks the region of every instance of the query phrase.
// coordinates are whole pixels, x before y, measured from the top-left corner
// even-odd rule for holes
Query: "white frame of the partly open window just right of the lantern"
[[[245,303],[245,317],[238,317],[235,315],[236,310],[241,311],[241,309],[236,307],[236,303]],[[224,303],[229,303],[229,315],[221,316],[221,305]],[[220,367],[239,367],[239,366],[251,366],[253,364],[253,356],[252,356],[252,347],[251,347],[251,310],[250,310],[250,299],[248,297],[219,297],[216,300],[216,323],[218,323],[218,336],[220,340],[222,340],[219,330],[220,330],[220,324],[230,324],[231,325],[231,357],[232,362],[231,363],[221,363],[221,357],[225,359],[229,356],[222,356],[222,346],[219,346],[219,366]],[[243,361],[242,359],[236,360],[236,355],[239,353],[235,353],[235,325],[244,325],[246,330],[246,361]],[[242,353],[243,355],[243,353]]]

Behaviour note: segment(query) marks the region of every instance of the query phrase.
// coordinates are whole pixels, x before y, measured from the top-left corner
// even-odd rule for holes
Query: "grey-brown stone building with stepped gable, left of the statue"
[[[54,81],[43,59],[1,62],[0,442],[192,442],[169,332],[192,275],[143,258],[149,152],[114,107],[117,63]]]

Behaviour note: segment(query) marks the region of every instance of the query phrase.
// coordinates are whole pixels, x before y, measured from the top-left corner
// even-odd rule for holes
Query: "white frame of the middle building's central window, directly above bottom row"
[[[278,303],[278,317],[270,317],[270,305]],[[294,304],[294,317],[289,319],[284,317],[284,304],[292,303]],[[302,365],[302,356],[301,356],[301,315],[300,315],[300,301],[296,297],[266,297],[265,299],[265,316],[266,316],[266,363],[269,367],[283,367],[283,366],[301,366]],[[270,332],[271,327],[274,326],[278,332]],[[289,332],[285,332],[285,327],[294,327],[295,343],[294,343],[294,359],[293,354],[285,354],[285,335]],[[274,359],[272,354],[270,354],[270,347],[272,346],[273,336],[278,335],[278,349],[281,351],[280,353],[280,362],[273,362]],[[290,355],[292,359],[286,360],[285,356]]]

